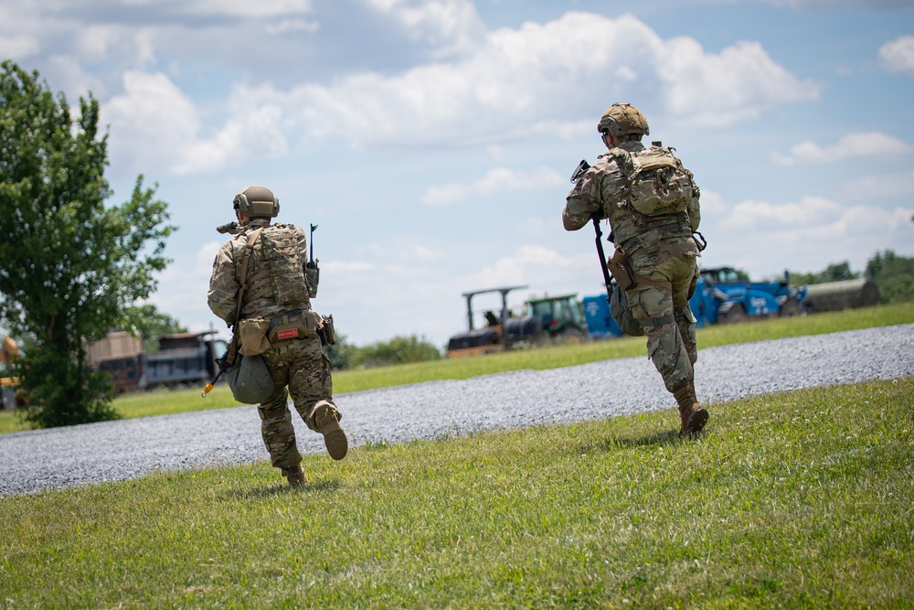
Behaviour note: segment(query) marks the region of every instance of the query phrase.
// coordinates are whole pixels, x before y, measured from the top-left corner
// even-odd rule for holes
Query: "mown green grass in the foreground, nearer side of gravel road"
[[[0,498],[0,608],[909,608],[914,379]]]

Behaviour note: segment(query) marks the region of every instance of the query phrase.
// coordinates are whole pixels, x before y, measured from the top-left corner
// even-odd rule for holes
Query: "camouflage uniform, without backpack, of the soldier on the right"
[[[634,153],[644,146],[629,140],[618,148]],[[566,230],[579,230],[595,212],[610,220],[614,243],[628,255],[632,272],[650,282],[639,282],[625,294],[647,337],[648,356],[666,389],[674,392],[684,383],[693,384],[698,359],[696,320],[688,306],[698,279],[699,253],[692,237],[699,221],[698,188],[693,183],[694,201],[684,212],[645,216],[624,197],[628,174],[622,166],[629,156],[618,148],[602,155],[571,189],[562,222]]]

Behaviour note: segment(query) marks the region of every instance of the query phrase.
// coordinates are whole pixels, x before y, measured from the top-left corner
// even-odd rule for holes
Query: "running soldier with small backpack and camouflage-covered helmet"
[[[627,259],[624,272],[633,281],[625,289],[629,311],[679,405],[679,435],[691,436],[708,417],[696,399],[696,320],[688,306],[698,279],[698,187],[669,148],[644,147],[641,138],[650,130],[631,104],[613,104],[597,130],[609,152],[578,178],[562,222],[566,230],[579,230],[595,215],[609,219],[615,255]],[[622,288],[629,283],[616,280]]]

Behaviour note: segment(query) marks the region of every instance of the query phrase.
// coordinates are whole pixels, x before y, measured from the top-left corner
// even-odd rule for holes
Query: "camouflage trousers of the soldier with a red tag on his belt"
[[[288,397],[292,395],[295,411],[308,428],[315,430],[314,421],[310,417],[314,406],[322,404],[336,409],[330,361],[317,337],[274,343],[262,356],[267,369],[270,369],[276,390],[257,407],[260,434],[263,436],[263,444],[270,452],[272,465],[282,468],[283,474],[286,474],[302,463],[302,455],[295,442]]]

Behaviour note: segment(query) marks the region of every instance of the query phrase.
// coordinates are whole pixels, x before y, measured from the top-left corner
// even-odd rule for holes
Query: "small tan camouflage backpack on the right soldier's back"
[[[621,206],[645,216],[664,216],[685,211],[692,202],[692,178],[668,147],[654,145],[634,153],[613,148],[609,155],[627,178]]]

